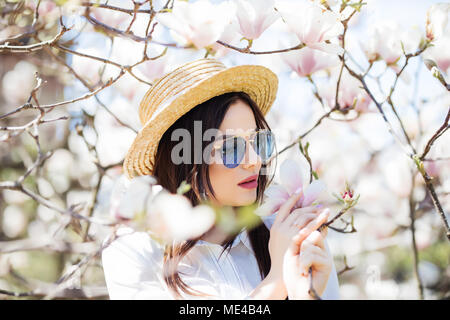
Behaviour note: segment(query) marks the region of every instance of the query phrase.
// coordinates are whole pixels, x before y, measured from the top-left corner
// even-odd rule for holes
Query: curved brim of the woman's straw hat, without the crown
[[[220,71],[189,87],[166,103],[142,127],[128,150],[123,169],[131,179],[153,174],[158,144],[164,132],[195,106],[224,93],[243,91],[266,115],[276,98],[278,78],[270,69],[259,65],[240,65]]]

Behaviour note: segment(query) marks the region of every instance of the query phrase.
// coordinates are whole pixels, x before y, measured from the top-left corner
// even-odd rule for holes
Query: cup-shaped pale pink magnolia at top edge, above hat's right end
[[[240,33],[247,39],[256,39],[279,17],[274,0],[237,0],[236,15]]]

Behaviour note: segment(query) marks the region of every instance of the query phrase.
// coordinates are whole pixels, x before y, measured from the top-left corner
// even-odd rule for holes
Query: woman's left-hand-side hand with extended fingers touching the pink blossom
[[[301,198],[303,192],[294,193],[279,209],[277,217],[270,229],[269,254],[271,260],[270,276],[282,281],[283,259],[292,240],[298,235],[299,229],[304,229],[323,209],[308,206],[292,210],[295,203]],[[292,210],[292,211],[291,211]],[[317,226],[318,228],[319,226]],[[303,231],[306,238],[309,233],[316,230]]]

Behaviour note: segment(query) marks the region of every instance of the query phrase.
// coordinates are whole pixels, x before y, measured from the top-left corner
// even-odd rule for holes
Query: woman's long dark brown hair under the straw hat
[[[207,163],[202,161],[201,164],[196,164],[195,161],[193,161],[193,152],[191,152],[191,161],[189,163],[174,164],[171,160],[171,151],[173,147],[179,143],[178,141],[171,141],[172,132],[180,128],[187,129],[190,132],[190,137],[192,139],[191,146],[193,148],[194,121],[201,121],[202,134],[208,129],[218,129],[230,105],[238,100],[247,103],[252,109],[257,129],[270,130],[269,125],[264,119],[264,115],[248,94],[244,92],[229,92],[213,97],[191,109],[165,131],[158,145],[153,172],[153,175],[158,180],[158,184],[170,192],[175,193],[181,182],[183,180],[186,181],[191,185],[191,189],[184,195],[190,200],[193,206],[198,205],[201,202],[202,192],[205,193],[207,198],[215,197],[209,178]],[[204,150],[209,143],[210,142],[208,141],[203,141],[202,150]],[[268,175],[259,175],[256,202],[261,203],[264,190],[272,179],[268,181]],[[259,219],[258,222],[256,227],[249,230],[249,238],[255,252],[261,277],[265,278],[270,270],[270,255],[268,249],[269,230],[264,223],[262,223],[261,219]],[[234,237],[223,245],[223,251],[227,248],[231,248]],[[183,282],[177,271],[180,260],[192,247],[194,247],[197,241],[198,239],[193,239],[185,241],[180,245],[166,246],[163,265],[164,280],[169,289],[171,289],[177,297],[181,297],[180,289],[187,294],[201,294],[198,291],[189,288],[188,285]]]

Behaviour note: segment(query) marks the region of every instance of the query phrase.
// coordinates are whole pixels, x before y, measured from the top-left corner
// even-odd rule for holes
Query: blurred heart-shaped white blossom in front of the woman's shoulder
[[[213,226],[215,218],[211,207],[192,207],[185,196],[161,191],[149,206],[147,226],[164,243],[180,243],[201,236]]]

